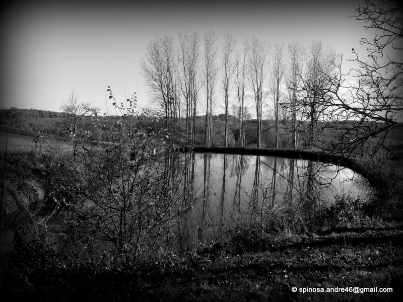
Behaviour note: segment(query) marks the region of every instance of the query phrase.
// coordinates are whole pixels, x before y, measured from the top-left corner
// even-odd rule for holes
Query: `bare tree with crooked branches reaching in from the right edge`
[[[339,148],[345,154],[355,155],[364,149],[372,157],[380,148],[388,149],[388,132],[403,127],[403,7],[393,1],[366,0],[354,14],[373,33],[373,38],[363,38],[365,58],[354,48],[349,61],[357,67],[348,74],[330,78],[334,87],[327,92],[329,107],[337,116],[337,126],[342,129]],[[354,77],[353,85],[346,80]]]

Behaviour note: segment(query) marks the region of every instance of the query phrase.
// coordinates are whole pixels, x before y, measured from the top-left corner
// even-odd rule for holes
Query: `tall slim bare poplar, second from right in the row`
[[[298,91],[301,85],[302,74],[302,46],[299,42],[293,41],[288,44],[288,72],[287,72],[287,90],[288,105],[286,106],[291,113],[291,144],[294,149],[298,148],[298,129],[297,129],[297,103],[300,97]]]

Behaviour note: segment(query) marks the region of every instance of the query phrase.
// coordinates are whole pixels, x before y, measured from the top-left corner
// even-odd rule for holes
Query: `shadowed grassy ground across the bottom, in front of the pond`
[[[393,301],[403,294],[402,224],[302,238],[248,238],[239,234],[197,253],[161,253],[125,263],[109,258],[66,264],[40,245],[19,243],[2,263],[2,296],[15,301]],[[337,287],[339,292],[302,292]],[[350,292],[354,287],[393,292]]]

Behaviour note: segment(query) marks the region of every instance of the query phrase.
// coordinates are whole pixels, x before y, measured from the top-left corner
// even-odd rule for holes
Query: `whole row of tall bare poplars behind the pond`
[[[331,90],[330,78],[337,72],[337,55],[330,46],[313,41],[304,48],[299,42],[275,44],[252,37],[241,45],[227,33],[220,43],[212,30],[155,37],[141,61],[143,75],[153,99],[164,110],[171,133],[184,119],[186,143],[196,144],[197,113],[203,114],[202,144],[211,145],[214,109],[224,109],[222,145],[246,143],[245,125],[249,102],[256,118],[256,146],[271,144],[263,120],[274,119],[275,147],[281,147],[281,124],[287,125],[292,147],[298,147],[298,133],[304,132],[314,146],[317,127],[323,120],[323,90]],[[330,77],[330,78],[329,78]],[[236,117],[231,122],[230,113]],[[250,118],[250,117],[249,117]],[[286,121],[286,122],[284,122]],[[302,128],[303,126],[303,128]],[[182,136],[182,135],[181,135]],[[200,142],[200,141],[198,141]]]

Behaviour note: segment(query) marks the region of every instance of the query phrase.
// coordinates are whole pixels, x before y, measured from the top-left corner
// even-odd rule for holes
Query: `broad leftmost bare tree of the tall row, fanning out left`
[[[147,44],[146,57],[141,60],[146,85],[163,108],[166,126],[172,137],[175,136],[180,109],[174,54],[173,38],[157,36]]]

